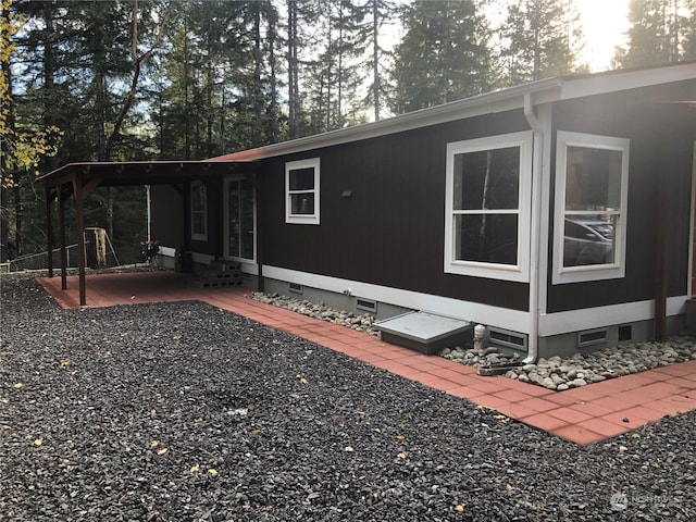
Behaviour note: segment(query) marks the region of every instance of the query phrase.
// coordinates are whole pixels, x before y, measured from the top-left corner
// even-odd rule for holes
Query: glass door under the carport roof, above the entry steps
[[[245,178],[225,182],[225,257],[256,260],[256,194]]]

